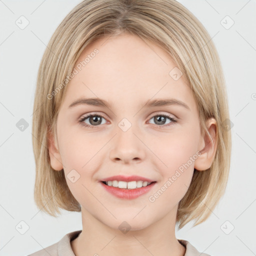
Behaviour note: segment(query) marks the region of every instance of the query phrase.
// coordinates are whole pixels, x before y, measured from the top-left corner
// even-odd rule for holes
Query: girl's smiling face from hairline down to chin
[[[86,65],[78,65],[88,54]],[[169,74],[175,66],[157,45],[128,34],[99,39],[75,63],[78,73],[67,85],[57,117],[56,147],[82,213],[109,227],[117,229],[125,220],[136,230],[167,216],[175,219],[194,167],[202,166],[196,153],[204,146],[196,102],[184,75]],[[81,98],[107,105],[90,100],[70,106]],[[170,99],[186,107],[146,104]],[[51,159],[54,169],[56,164]],[[101,181],[113,175],[156,182],[146,193],[125,199],[103,187]]]

